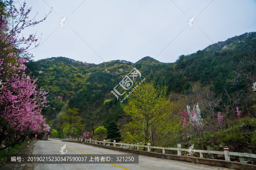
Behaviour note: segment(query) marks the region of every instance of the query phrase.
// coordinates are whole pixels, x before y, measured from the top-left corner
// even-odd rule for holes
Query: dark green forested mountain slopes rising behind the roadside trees
[[[202,86],[210,85],[216,94],[222,94],[227,80],[233,79],[234,71],[239,69],[241,59],[255,49],[256,32],[250,32],[209,45],[193,54],[180,55],[174,63],[144,57],[136,63],[113,60],[90,64],[66,57],[52,57],[27,62],[26,71],[38,77],[39,86],[49,91],[51,108],[44,108],[43,114],[52,120],[52,127],[60,127],[58,115],[74,107],[79,108],[79,115],[89,131],[108,124],[110,120],[122,118],[120,102],[111,90],[134,67],[142,77],[149,76],[157,85],[166,85],[169,93],[186,94],[199,82]],[[230,87],[230,92],[247,87],[242,82]]]

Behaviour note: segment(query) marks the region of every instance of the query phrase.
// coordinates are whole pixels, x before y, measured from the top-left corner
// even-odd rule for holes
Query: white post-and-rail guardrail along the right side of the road
[[[225,156],[225,161],[230,161],[230,156],[241,156],[241,157],[249,157],[249,158],[256,158],[256,154],[250,154],[250,153],[237,153],[237,152],[230,152],[228,147],[224,147],[224,151],[214,151],[214,150],[189,150],[189,149],[182,149],[181,148],[181,144],[177,144],[177,148],[176,147],[156,147],[156,146],[150,146],[150,143],[148,143],[148,145],[140,145],[140,144],[129,144],[129,143],[116,143],[116,141],[114,140],[114,142],[108,142],[108,141],[97,141],[97,140],[91,140],[91,139],[63,139],[62,141],[81,141],[81,142],[87,142],[87,143],[95,143],[95,144],[103,144],[106,145],[108,144],[109,146],[111,144],[113,144],[113,147],[119,147],[117,145],[120,145],[120,147],[127,146],[128,149],[130,149],[131,146],[133,147],[137,147],[137,150],[140,150],[141,147],[146,147],[147,151],[150,152],[151,148],[154,149],[162,149],[163,150],[163,154],[165,154],[165,150],[177,150],[177,155],[181,156],[181,151],[187,151],[187,152],[197,152],[200,154],[200,158],[204,158],[203,153],[212,153],[212,154],[221,154]]]

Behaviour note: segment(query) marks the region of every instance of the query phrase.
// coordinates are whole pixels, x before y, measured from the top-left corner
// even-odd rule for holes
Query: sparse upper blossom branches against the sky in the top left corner
[[[6,82],[6,78],[9,77],[9,81],[14,82],[15,79],[10,79],[11,75],[22,74],[26,68],[23,64],[26,59],[20,55],[31,50],[29,47],[33,42],[35,47],[39,45],[36,44],[38,39],[35,34],[23,37],[20,36],[21,31],[41,23],[48,15],[42,20],[35,21],[34,18],[29,19],[31,8],[27,8],[25,2],[19,9],[15,8],[13,0],[2,5],[4,7],[0,8],[0,80]]]

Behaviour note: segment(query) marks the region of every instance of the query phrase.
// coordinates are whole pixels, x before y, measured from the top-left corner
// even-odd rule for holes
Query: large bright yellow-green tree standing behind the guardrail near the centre
[[[178,116],[170,111],[172,103],[166,96],[166,91],[166,86],[157,85],[155,88],[154,81],[151,81],[137,85],[134,93],[128,97],[128,103],[121,103],[125,114],[131,116],[132,125],[138,125],[145,144],[152,142],[155,145],[157,141],[161,142],[168,133],[178,130],[180,126]]]

